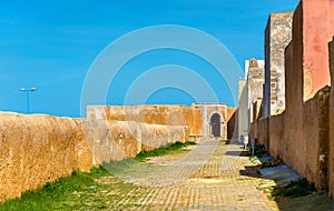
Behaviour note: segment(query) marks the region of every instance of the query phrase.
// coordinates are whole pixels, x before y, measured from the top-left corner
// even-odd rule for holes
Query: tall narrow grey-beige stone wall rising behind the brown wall
[[[293,12],[271,13],[265,30],[264,117],[285,109],[284,50],[292,39]]]

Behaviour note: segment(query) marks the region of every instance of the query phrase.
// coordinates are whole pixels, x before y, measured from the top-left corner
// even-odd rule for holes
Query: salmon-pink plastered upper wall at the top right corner
[[[304,100],[330,84],[327,43],[334,34],[333,0],[302,0],[303,9],[303,56]]]

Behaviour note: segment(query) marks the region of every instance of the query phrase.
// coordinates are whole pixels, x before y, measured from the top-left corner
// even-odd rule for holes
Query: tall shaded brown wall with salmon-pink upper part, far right
[[[323,48],[334,30],[332,7],[328,0],[303,0],[296,8],[292,42],[285,49],[286,109],[268,119],[269,151],[318,190],[328,187],[328,57]],[[258,137],[268,133],[258,131]]]

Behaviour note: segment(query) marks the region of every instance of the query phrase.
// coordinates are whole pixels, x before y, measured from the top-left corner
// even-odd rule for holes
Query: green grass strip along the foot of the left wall
[[[176,153],[184,150],[187,145],[196,144],[195,142],[176,142],[167,145],[163,145],[151,151],[143,151],[135,158],[137,161],[145,161],[149,157],[159,157],[169,153]],[[134,164],[134,159],[126,159],[122,162],[126,164]],[[119,161],[115,161],[119,162]],[[114,162],[111,162],[114,163]],[[138,162],[137,162],[138,163]],[[127,168],[122,168],[127,169]],[[0,204],[0,211],[2,210],[90,210],[90,209],[105,209],[108,204],[106,201],[119,198],[118,193],[109,197],[108,200],[99,201],[94,195],[99,194],[99,189],[111,189],[125,191],[127,189],[137,189],[134,184],[127,184],[118,179],[110,185],[101,187],[95,179],[110,175],[110,173],[102,167],[94,167],[90,172],[75,171],[71,175],[60,178],[55,182],[47,182],[41,189],[30,190],[23,192],[20,198],[10,199]],[[145,190],[143,190],[145,191]],[[96,205],[98,204],[98,205]]]

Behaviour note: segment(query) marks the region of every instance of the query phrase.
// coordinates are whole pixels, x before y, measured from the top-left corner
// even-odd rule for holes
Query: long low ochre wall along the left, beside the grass
[[[179,125],[0,112],[0,201],[186,135]]]

